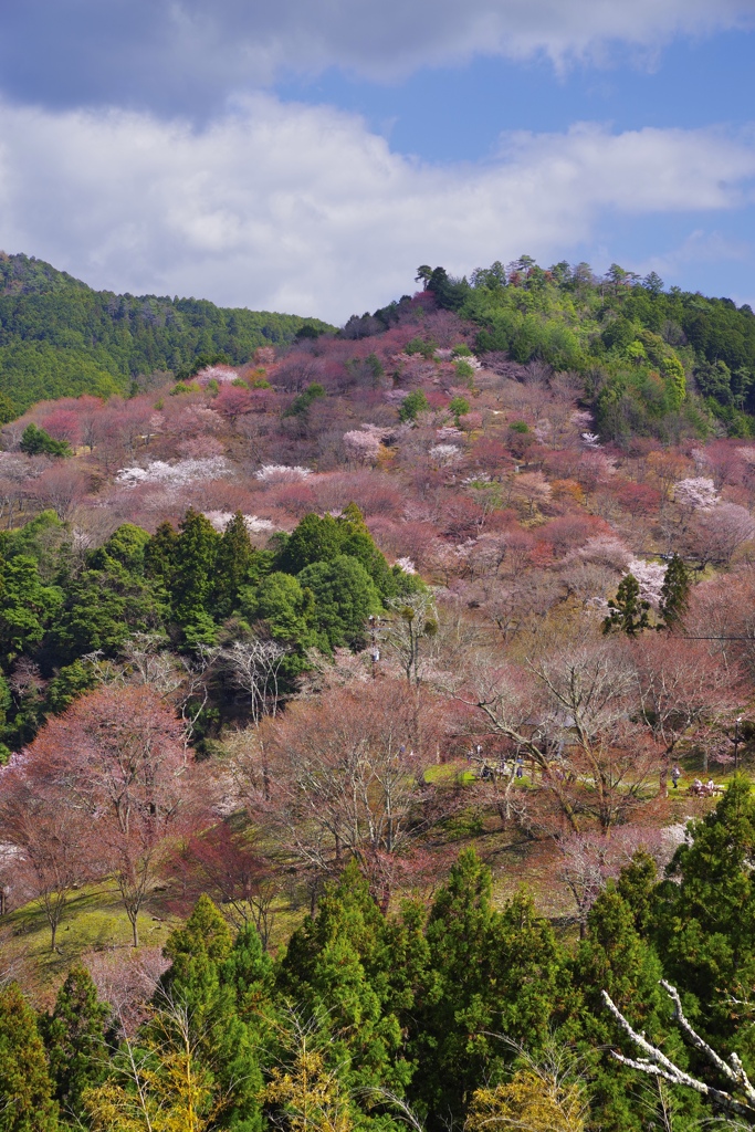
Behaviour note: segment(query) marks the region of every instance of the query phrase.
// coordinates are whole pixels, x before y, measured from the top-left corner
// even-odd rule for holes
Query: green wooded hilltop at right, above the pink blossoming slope
[[[702,436],[709,414],[730,435],[752,432],[755,316],[747,305],[664,291],[654,273],[641,280],[614,265],[598,277],[587,264],[543,269],[529,256],[478,269],[470,282],[429,266],[419,277],[441,307],[480,328],[478,352],[578,372],[606,439],[672,440],[680,429]],[[369,332],[395,310],[348,328]]]

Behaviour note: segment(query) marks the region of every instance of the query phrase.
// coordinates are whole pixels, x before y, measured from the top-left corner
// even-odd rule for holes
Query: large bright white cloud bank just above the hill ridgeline
[[[418,263],[549,261],[625,215],[735,208],[755,145],[714,130],[516,134],[495,162],[392,153],[354,115],[258,95],[195,130],[127,112],[0,108],[0,247],[96,286],[335,321]]]

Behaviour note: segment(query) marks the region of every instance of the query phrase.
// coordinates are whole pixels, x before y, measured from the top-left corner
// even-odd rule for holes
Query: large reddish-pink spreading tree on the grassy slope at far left
[[[89,815],[96,856],[137,921],[189,778],[181,726],[148,687],[105,685],[48,721],[24,763],[31,782]],[[96,817],[96,822],[94,818]]]

